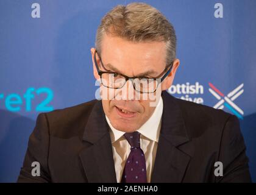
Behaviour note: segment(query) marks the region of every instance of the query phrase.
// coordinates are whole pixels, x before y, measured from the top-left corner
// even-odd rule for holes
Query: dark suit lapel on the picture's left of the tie
[[[91,111],[83,140],[90,144],[79,154],[88,182],[116,182],[112,144],[101,101]]]

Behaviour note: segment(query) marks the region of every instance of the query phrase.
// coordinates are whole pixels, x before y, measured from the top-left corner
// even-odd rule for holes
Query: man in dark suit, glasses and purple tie
[[[18,182],[251,182],[238,119],[166,93],[180,61],[157,9],[116,6],[91,55],[102,100],[38,115]]]

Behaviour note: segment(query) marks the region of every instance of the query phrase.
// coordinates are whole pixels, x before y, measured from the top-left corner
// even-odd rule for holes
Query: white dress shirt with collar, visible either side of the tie
[[[161,129],[162,113],[163,99],[161,97],[152,116],[143,124],[143,126],[140,127],[140,129],[137,130],[141,133],[140,147],[146,158],[148,182],[151,182],[152,169],[154,168],[155,154],[157,153],[157,144]],[[124,165],[126,164],[126,160],[130,154],[130,144],[123,136],[125,132],[116,130],[106,115],[105,118],[107,119],[108,126],[110,126],[110,138],[112,141],[113,158],[115,162],[116,181],[119,183],[121,182]]]

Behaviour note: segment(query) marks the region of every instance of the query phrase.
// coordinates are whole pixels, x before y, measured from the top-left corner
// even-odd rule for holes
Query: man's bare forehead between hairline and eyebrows
[[[165,66],[166,47],[163,41],[133,42],[105,34],[102,38],[101,56],[108,63],[123,65]],[[111,62],[109,62],[111,61]]]

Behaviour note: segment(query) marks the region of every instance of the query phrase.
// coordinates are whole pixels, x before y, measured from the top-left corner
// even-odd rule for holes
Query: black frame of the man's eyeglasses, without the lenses
[[[126,82],[127,82],[127,80],[132,79],[132,84],[133,84],[133,88],[134,88],[135,91],[138,91],[138,90],[135,88],[135,83],[133,83],[133,80],[134,80],[134,79],[154,79],[154,80],[157,81],[157,87],[155,87],[155,90],[154,90],[154,91],[152,91],[152,92],[142,92],[142,91],[138,91],[138,92],[140,92],[140,93],[154,93],[154,92],[157,90],[158,85],[159,85],[160,83],[162,83],[163,80],[165,80],[165,78],[169,75],[169,73],[171,73],[172,65],[173,65],[173,61],[172,61],[168,66],[166,66],[166,68],[163,70],[163,72],[162,72],[161,74],[159,74],[157,77],[128,77],[128,76],[126,76],[126,75],[124,75],[124,74],[116,73],[116,72],[113,72],[113,71],[101,71],[101,70],[99,69],[99,66],[98,66],[98,63],[97,63],[97,60],[96,60],[96,53],[98,54],[98,52],[95,50],[93,59],[94,59],[94,64],[95,64],[95,66],[96,66],[97,72],[98,72],[99,76],[101,77],[101,83],[102,83],[102,85],[104,85],[104,83],[102,82],[102,74],[104,74],[104,73],[108,73],[108,74],[119,74],[120,76],[123,76],[123,77],[126,79]],[[99,57],[99,60],[101,61],[101,64],[102,64],[103,68],[104,68],[104,69],[107,69],[107,68],[105,68],[104,63],[102,62],[101,56],[100,56],[99,54],[98,54],[98,57]],[[168,68],[169,68],[169,69],[168,69]],[[166,69],[168,69],[168,71],[165,73]],[[163,75],[163,77],[160,78],[160,76],[162,76],[163,73],[165,73],[165,74]],[[159,82],[158,79],[160,79],[160,82]],[[124,82],[124,85],[126,84],[126,82]],[[123,85],[122,87],[117,87],[117,88],[116,88],[116,87],[109,87],[109,86],[106,86],[106,85],[104,85],[104,87],[113,88],[113,89],[120,89],[120,88],[123,88],[124,85]]]

